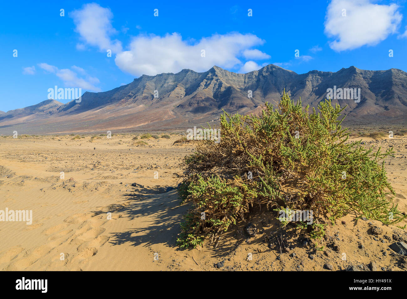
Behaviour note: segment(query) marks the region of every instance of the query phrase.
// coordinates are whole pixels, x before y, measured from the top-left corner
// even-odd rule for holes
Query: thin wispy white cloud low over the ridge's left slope
[[[96,77],[89,76],[88,73],[83,68],[73,65],[70,70],[68,68],[59,69],[54,65],[49,65],[48,63],[38,63],[38,66],[48,73],[55,74],[59,79],[63,81],[65,87],[75,87],[83,88],[94,92],[100,92],[101,89],[96,87],[100,83],[99,79]],[[78,76],[79,72],[83,78]]]

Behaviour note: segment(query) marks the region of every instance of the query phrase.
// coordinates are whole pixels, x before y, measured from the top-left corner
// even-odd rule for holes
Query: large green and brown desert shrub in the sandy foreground
[[[385,224],[403,220],[385,197],[394,190],[383,159],[394,151],[373,152],[350,142],[341,127],[343,109],[325,100],[309,111],[284,92],[277,109],[266,103],[260,116],[223,113],[221,142],[199,142],[183,162],[179,196],[193,207],[179,246],[219,238],[254,205],[312,210],[313,238],[323,236],[326,219],[350,212]]]

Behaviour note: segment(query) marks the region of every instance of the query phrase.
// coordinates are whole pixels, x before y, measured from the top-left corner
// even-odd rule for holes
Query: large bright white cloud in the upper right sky
[[[396,32],[403,17],[398,8],[370,0],[332,0],[325,15],[325,33],[335,38],[330,48],[342,51],[378,44]]]

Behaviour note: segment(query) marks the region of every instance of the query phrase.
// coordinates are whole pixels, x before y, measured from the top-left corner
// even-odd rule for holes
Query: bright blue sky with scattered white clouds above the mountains
[[[407,71],[405,0],[8,1],[0,22],[2,111],[42,102],[55,85],[100,92],[142,74],[213,65]]]

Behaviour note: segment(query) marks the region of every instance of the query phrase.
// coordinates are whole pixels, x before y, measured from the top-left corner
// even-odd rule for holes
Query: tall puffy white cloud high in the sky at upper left
[[[112,26],[113,13],[108,8],[99,6],[96,3],[83,5],[82,9],[73,11],[70,16],[76,25],[76,31],[88,44],[96,46],[101,51],[112,50],[120,52],[122,45],[120,41],[110,38],[118,32]],[[83,48],[78,44],[77,48]]]

